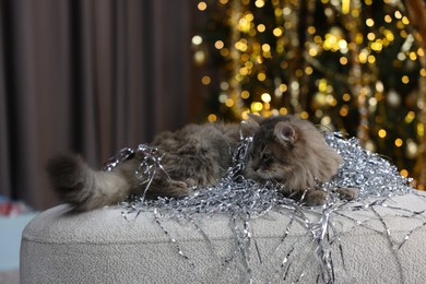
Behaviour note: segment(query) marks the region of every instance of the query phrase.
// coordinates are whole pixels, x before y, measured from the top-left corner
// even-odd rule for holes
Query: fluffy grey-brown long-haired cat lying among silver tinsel
[[[316,189],[316,180],[329,181],[339,170],[341,156],[307,120],[294,116],[263,118],[250,115],[245,123],[188,125],[157,134],[151,146],[163,153],[146,198],[180,198],[198,188],[214,186],[233,166],[240,137],[250,135],[242,175],[258,182],[281,185],[285,196],[307,205],[324,204],[328,192]],[[135,175],[140,153],[110,171],[91,168],[81,156],[62,154],[51,158],[47,171],[54,190],[75,211],[90,211],[144,193]],[[356,199],[353,189],[338,189],[342,199]]]

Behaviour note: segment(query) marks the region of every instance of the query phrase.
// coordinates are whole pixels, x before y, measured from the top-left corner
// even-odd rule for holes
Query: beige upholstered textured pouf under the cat
[[[248,224],[153,212],[127,221],[120,208],[59,205],[23,232],[21,283],[426,283],[426,194],[381,200],[330,215],[271,211]]]

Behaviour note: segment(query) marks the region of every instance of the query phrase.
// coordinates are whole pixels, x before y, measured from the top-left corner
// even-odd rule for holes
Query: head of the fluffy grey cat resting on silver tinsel
[[[245,175],[257,181],[283,184],[288,191],[311,188],[338,173],[340,155],[317,128],[293,116],[261,118],[249,147]]]

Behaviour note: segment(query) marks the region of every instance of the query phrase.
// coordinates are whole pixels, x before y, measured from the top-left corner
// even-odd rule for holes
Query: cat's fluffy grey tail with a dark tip
[[[76,211],[115,204],[130,191],[129,182],[118,173],[95,170],[73,154],[51,158],[47,173],[60,200]]]

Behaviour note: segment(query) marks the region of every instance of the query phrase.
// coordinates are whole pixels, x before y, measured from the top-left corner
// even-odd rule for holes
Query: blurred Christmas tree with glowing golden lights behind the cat
[[[426,70],[409,8],[398,0],[197,2],[192,45],[205,118],[296,115],[357,137],[403,176],[418,177]]]

